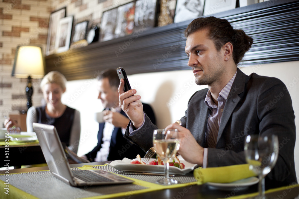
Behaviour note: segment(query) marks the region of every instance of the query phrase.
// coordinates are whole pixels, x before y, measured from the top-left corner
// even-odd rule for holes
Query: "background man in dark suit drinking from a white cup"
[[[103,71],[97,77],[98,99],[101,100],[104,110],[104,122],[99,123],[97,134],[98,143],[94,149],[83,156],[89,161],[122,160],[123,158],[141,157],[145,152],[131,141],[123,138],[129,118],[119,107],[118,85],[120,80],[116,70]],[[148,104],[144,104],[144,112],[155,124],[155,115]]]

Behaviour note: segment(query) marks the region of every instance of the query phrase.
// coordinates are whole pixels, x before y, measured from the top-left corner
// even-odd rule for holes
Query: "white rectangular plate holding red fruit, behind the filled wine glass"
[[[133,159],[137,160],[137,158]],[[143,160],[143,158],[141,158]],[[155,159],[150,159],[150,161],[153,161]],[[149,164],[131,164],[132,160],[128,158],[123,158],[123,160],[115,160],[111,163],[106,163],[113,168],[119,170],[119,171],[135,171],[135,172],[148,172],[148,173],[164,173],[164,165],[149,165]],[[184,163],[185,168],[180,169],[176,166],[170,166],[169,167],[169,174],[186,174],[190,171],[193,171],[197,164],[191,164],[184,160],[180,160],[181,163]]]

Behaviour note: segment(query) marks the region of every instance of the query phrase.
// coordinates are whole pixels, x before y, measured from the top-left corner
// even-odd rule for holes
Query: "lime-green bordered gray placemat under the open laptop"
[[[108,166],[108,165],[103,165]],[[99,166],[101,167],[101,166]],[[91,166],[83,166],[73,169],[95,169]],[[128,178],[124,176],[125,178]],[[55,178],[50,171],[37,171],[30,173],[10,174],[8,176],[0,175],[0,189],[4,190],[6,179],[9,182],[9,195],[5,192],[0,192],[0,198],[113,198],[113,197],[126,197],[139,193],[146,193],[161,189],[190,186],[193,183],[184,183],[171,186],[163,186],[155,183],[150,183],[138,179],[133,179],[135,182],[132,184],[121,185],[106,185],[106,186],[85,186],[85,187],[72,187],[68,184]]]

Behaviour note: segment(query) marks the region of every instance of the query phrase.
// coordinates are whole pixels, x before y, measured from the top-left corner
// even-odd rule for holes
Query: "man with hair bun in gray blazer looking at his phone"
[[[286,86],[277,78],[245,75],[237,64],[253,43],[243,30],[225,19],[197,18],[185,30],[185,52],[195,82],[208,89],[191,96],[178,129],[180,155],[204,167],[246,163],[246,135],[277,135],[279,157],[266,177],[266,188],[297,183],[294,161],[295,115]],[[136,90],[118,92],[120,106],[130,118],[124,137],[144,150],[152,146],[157,127],[144,114]]]

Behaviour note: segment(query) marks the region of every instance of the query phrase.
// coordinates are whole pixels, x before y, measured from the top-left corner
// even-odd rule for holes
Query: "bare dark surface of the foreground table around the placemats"
[[[107,161],[110,163],[111,161]],[[81,167],[83,165],[103,165],[106,162],[93,162],[93,163],[81,163],[81,164],[71,164],[70,167]],[[38,170],[48,170],[47,166],[44,167],[31,167],[24,169],[11,169],[9,170],[9,174],[19,173],[19,172],[34,172]],[[1,170],[0,174],[4,174],[5,170]],[[240,189],[236,187],[234,190],[230,191],[221,191],[217,189],[213,189],[208,185],[188,185],[180,188],[173,189],[164,189],[153,192],[147,192],[142,194],[129,195],[126,197],[120,197],[121,199],[140,199],[140,198],[171,198],[171,199],[181,199],[181,198],[230,198],[236,195],[243,195],[248,193],[257,192],[257,185],[249,186],[245,189]],[[288,188],[276,192],[271,192],[267,194],[269,198],[277,198],[277,199],[288,199],[288,198],[296,198],[299,195],[299,186],[294,188]],[[244,196],[245,197],[245,196]]]

